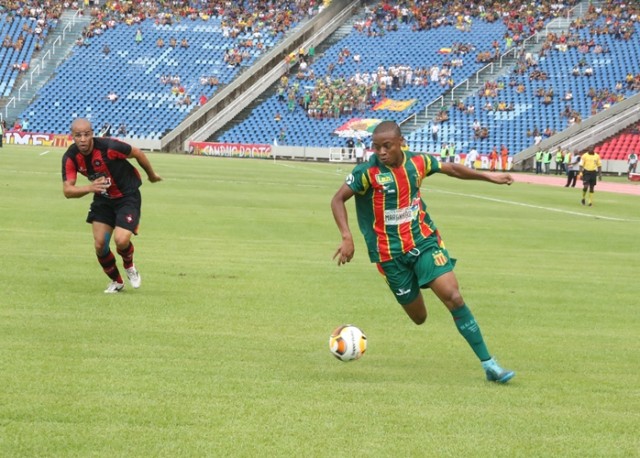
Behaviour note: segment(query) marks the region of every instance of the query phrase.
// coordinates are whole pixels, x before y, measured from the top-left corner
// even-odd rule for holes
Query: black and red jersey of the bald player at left
[[[127,160],[131,145],[113,138],[93,138],[93,151],[85,156],[73,144],[62,156],[62,181],[76,180],[78,173],[90,180],[99,176],[107,178],[111,185],[104,194],[117,199],[135,193],[142,185],[140,173]]]

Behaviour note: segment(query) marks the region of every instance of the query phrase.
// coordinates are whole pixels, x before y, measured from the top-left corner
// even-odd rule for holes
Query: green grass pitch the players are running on
[[[105,295],[62,153],[0,150],[0,456],[640,456],[638,197],[425,181],[502,386],[430,292],[405,316],[353,202],[332,261],[350,166],[149,154],[143,285]],[[344,323],[359,361],[329,353]]]

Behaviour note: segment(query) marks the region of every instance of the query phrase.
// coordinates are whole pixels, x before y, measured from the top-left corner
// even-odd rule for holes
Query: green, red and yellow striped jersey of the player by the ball
[[[346,179],[355,192],[358,226],[371,262],[385,262],[421,249],[436,227],[420,195],[422,180],[440,171],[427,154],[405,152],[402,166],[388,168],[377,156],[356,166]]]

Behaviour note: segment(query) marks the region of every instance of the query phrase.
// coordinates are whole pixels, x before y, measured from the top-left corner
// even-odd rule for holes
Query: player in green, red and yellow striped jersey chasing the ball
[[[455,259],[440,238],[420,195],[422,181],[444,173],[462,180],[510,185],[508,173],[484,173],[460,164],[440,163],[427,154],[403,151],[404,138],[393,121],[383,121],[372,137],[374,155],[357,165],[331,200],[342,236],[335,252],[338,265],[353,258],[354,243],[345,202],[355,196],[360,231],[371,262],[385,277],[396,301],[414,323],[427,319],[421,288],[430,288],[449,309],[460,334],[481,361],[489,381],[506,383],[515,373],[500,367],[489,353],[480,327],[465,304],[453,272]]]

